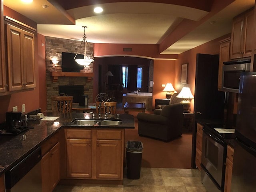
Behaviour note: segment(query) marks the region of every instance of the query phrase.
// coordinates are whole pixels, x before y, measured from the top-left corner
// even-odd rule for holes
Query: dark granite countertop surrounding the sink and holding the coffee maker
[[[74,126],[71,122],[75,118],[91,118],[92,114],[72,112],[71,114],[52,114],[46,113],[46,116],[60,116],[55,121],[29,120],[27,125],[34,128],[20,133],[16,136],[0,135],[0,175],[24,159],[30,152],[41,146],[50,136],[54,135],[61,128],[84,128],[84,126]],[[98,118],[96,116],[96,118]],[[119,119],[122,124],[118,126],[86,126],[86,128],[125,128],[134,129],[134,116],[129,114],[120,114]],[[59,122],[59,124],[54,124]],[[25,135],[24,135],[25,134]]]

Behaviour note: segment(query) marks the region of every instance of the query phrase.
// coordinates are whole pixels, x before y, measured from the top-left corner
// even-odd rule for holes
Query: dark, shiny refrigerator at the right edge
[[[256,72],[240,76],[232,192],[256,190]]]

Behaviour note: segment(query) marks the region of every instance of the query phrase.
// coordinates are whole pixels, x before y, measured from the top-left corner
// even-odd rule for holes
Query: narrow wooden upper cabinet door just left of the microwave
[[[218,89],[222,88],[222,68],[223,62],[229,61],[230,54],[230,41],[220,44],[220,61],[219,61],[219,72],[218,72]]]

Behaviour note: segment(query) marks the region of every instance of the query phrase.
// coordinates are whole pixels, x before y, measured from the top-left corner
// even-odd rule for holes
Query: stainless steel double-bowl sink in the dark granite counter
[[[108,126],[114,126],[114,125],[120,125],[122,124],[122,120],[88,120],[88,119],[74,119],[70,122],[72,125],[80,125],[80,126],[86,126],[86,125],[108,125]]]

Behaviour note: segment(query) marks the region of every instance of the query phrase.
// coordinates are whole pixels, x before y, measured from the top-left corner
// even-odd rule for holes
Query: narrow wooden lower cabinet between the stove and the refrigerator
[[[234,149],[228,145],[224,192],[231,192],[233,156],[234,156]]]

